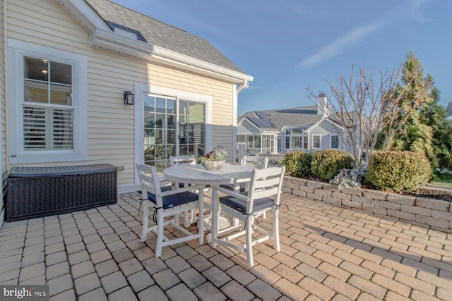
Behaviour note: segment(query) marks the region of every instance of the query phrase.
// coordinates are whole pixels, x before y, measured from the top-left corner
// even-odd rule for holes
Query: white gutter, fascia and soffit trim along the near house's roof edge
[[[85,0],[57,0],[71,16],[76,18],[91,34],[90,46],[133,56],[145,61],[162,63],[182,70],[218,78],[235,84],[244,80],[253,81],[253,77],[239,73],[213,63],[178,54],[148,42],[132,39],[114,32],[105,20]]]

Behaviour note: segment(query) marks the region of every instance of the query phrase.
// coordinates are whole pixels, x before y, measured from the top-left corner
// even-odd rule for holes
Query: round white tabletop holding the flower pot
[[[234,180],[249,180],[253,167],[225,165],[219,171],[206,171],[201,164],[179,165],[163,170],[165,178],[179,183],[221,185],[232,184]]]

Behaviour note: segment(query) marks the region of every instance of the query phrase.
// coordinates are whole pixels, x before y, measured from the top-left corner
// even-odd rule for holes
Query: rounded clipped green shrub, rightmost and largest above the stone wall
[[[379,151],[369,161],[366,180],[387,191],[410,191],[429,183],[429,159],[416,152]]]

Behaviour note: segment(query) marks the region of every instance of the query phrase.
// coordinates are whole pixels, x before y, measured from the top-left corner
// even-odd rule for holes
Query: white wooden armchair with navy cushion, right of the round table
[[[232,247],[239,252],[244,252],[249,266],[254,265],[253,260],[253,246],[266,240],[273,240],[273,247],[277,252],[280,251],[279,238],[279,222],[278,210],[280,207],[281,188],[283,186],[283,179],[285,173],[285,166],[270,167],[263,169],[254,169],[251,175],[251,182],[249,184],[249,191],[238,193],[225,188],[215,188],[213,190],[213,198],[218,198],[218,192],[225,193],[226,196],[218,199],[220,203],[220,211],[222,214],[228,214],[234,219],[242,221],[240,228],[223,229],[222,235],[226,231],[237,231],[229,235],[218,238],[218,229],[212,227],[212,247],[216,247],[217,243]],[[266,211],[273,213],[273,233],[269,233],[265,229],[255,223],[256,219],[262,216]],[[214,216],[218,216],[218,207],[213,206]],[[256,237],[253,238],[253,234]],[[258,234],[258,235],[257,235]],[[245,235],[244,245],[234,243],[239,236]],[[233,241],[234,240],[234,241]]]

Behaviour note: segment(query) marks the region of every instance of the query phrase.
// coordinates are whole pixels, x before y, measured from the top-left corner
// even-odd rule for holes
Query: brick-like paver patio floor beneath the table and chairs
[[[254,247],[253,267],[198,240],[156,258],[155,236],[139,239],[139,198],[4,223],[0,283],[48,284],[64,301],[452,300],[448,233],[283,194],[281,252]]]

